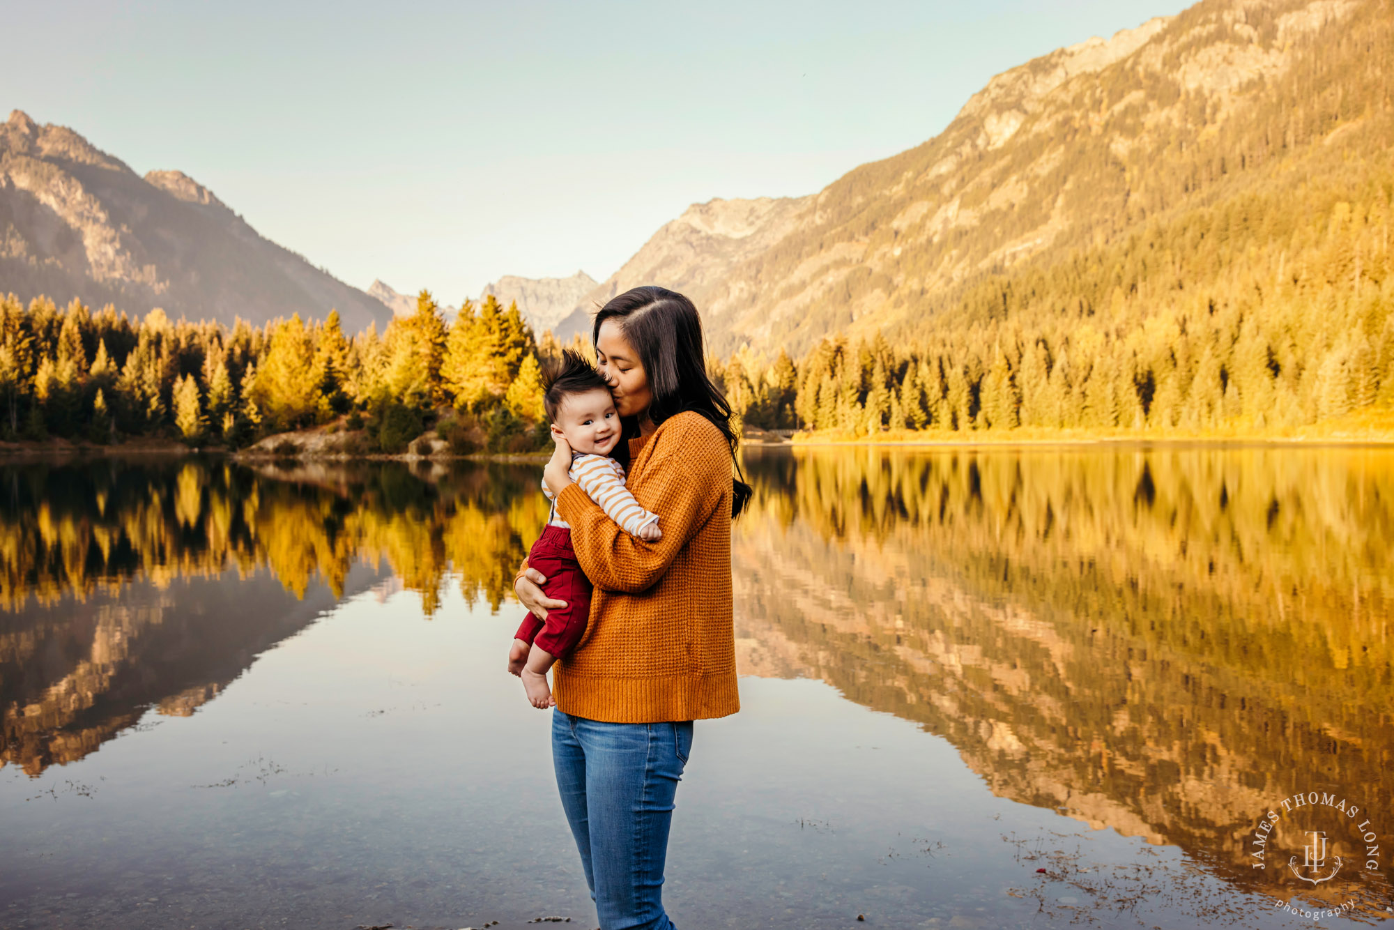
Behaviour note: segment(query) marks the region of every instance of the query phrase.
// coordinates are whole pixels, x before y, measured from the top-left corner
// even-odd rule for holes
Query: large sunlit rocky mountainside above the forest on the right
[[[1387,21],[1377,0],[1204,0],[1059,49],[994,77],[923,145],[810,198],[749,202],[783,209],[732,254],[711,255],[726,240],[689,229],[696,211],[722,202],[690,209],[606,293],[684,290],[721,354],[923,330],[986,276],[1126,244],[1149,223],[1256,185],[1301,184],[1316,170],[1298,167],[1309,155],[1379,163]],[[1331,149],[1302,134],[1315,123],[1352,125]]]

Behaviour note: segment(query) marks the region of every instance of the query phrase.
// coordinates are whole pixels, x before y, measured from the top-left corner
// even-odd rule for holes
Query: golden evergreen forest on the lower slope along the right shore
[[[722,365],[750,425],[1274,434],[1394,409],[1394,174],[1248,195],[1054,266],[986,275],[962,300],[793,364]]]

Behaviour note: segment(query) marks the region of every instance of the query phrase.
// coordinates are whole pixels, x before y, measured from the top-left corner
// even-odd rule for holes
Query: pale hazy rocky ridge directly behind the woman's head
[[[707,297],[736,265],[760,255],[793,229],[813,198],[761,197],[693,204],[644,243],[625,266],[579,301],[556,325],[556,337],[590,332],[591,315],[611,297],[640,284],[662,284],[705,308]],[[521,304],[520,304],[521,308]]]

